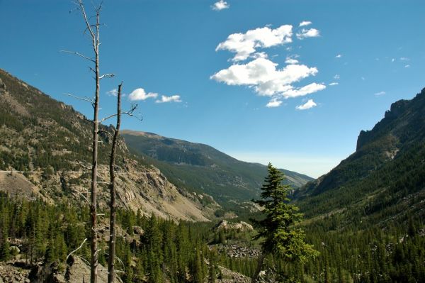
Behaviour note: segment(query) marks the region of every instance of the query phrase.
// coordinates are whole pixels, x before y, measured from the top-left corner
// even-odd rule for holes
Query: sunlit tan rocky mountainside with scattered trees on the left
[[[85,201],[90,187],[91,121],[60,101],[0,70],[0,190],[45,201]],[[112,126],[100,126],[98,203],[108,201]],[[1,170],[6,172],[1,172]],[[120,206],[186,221],[208,221],[206,207],[176,187],[156,167],[132,155],[120,140],[117,162]]]

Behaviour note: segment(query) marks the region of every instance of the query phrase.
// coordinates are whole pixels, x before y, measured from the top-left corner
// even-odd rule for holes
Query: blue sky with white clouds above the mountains
[[[94,90],[87,62],[60,52],[91,55],[73,8],[0,0],[0,68],[91,117],[63,95]],[[101,116],[123,80],[127,100],[144,99],[144,120],[123,128],[318,177],[425,87],[424,11],[425,1],[106,0],[101,72],[117,75],[102,82]]]

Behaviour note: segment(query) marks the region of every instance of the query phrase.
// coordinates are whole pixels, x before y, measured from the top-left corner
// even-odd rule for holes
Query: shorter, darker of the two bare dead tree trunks
[[[118,98],[117,98],[117,125],[113,134],[111,159],[109,162],[109,192],[111,194],[111,203],[109,208],[111,210],[111,216],[109,219],[109,257],[108,257],[108,283],[115,282],[115,152],[117,148],[118,135],[120,133],[121,126],[121,87],[123,83],[118,86]]]

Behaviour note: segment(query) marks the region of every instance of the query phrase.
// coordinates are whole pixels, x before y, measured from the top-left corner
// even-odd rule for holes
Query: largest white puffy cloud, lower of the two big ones
[[[210,79],[228,85],[254,87],[261,96],[283,96],[284,98],[304,96],[326,88],[324,84],[308,84],[295,88],[293,83],[317,74],[317,68],[306,65],[287,65],[277,69],[278,64],[258,58],[246,64],[235,64],[213,74]]]

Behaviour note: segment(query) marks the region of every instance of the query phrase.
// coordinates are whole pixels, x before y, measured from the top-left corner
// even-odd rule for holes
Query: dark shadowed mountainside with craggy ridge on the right
[[[393,103],[372,130],[361,131],[356,152],[295,192],[302,211],[315,219],[342,213],[347,223],[353,215],[358,223],[405,220],[407,211],[424,216],[424,113],[425,89]]]

